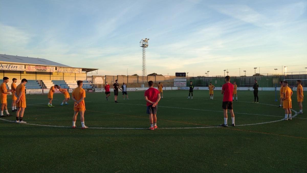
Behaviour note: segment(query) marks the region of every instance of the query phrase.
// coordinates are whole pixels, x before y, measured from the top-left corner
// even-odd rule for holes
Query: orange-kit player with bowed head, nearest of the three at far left
[[[27,123],[22,120],[23,114],[25,113],[26,102],[25,102],[25,84],[27,79],[22,79],[21,83],[16,87],[15,96],[17,98],[17,112],[16,112],[16,123]]]

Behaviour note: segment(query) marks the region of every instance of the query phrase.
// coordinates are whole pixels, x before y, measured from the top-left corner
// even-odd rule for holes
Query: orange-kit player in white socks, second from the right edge
[[[292,101],[291,101],[291,96],[293,94],[291,88],[288,86],[288,82],[287,81],[283,81],[282,82],[284,89],[283,89],[283,108],[285,110],[285,118],[282,120],[288,120],[288,115],[289,115],[289,120],[292,120],[291,117],[291,108],[292,108]]]

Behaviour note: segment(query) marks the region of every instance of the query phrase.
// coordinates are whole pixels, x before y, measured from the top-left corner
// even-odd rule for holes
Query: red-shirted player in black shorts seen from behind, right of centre
[[[233,113],[232,109],[232,95],[233,95],[233,84],[230,83],[230,76],[225,77],[225,84],[222,86],[222,94],[223,94],[223,104],[222,109],[224,110],[224,124],[220,126],[228,127],[227,126],[227,109],[229,109],[232,126],[235,126],[235,114]]]

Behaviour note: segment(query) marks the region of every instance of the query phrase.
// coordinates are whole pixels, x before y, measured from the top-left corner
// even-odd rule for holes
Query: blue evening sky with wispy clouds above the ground
[[[306,7],[295,0],[0,0],[0,54],[141,75],[139,41],[150,38],[147,74],[305,71]]]

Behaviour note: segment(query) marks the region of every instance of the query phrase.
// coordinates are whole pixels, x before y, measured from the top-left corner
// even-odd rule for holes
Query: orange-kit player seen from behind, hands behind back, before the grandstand
[[[85,111],[85,90],[82,88],[83,81],[77,81],[78,87],[72,91],[72,100],[74,104],[74,116],[72,117],[72,128],[76,128],[77,115],[80,112],[81,129],[87,129],[84,124],[84,111]]]

